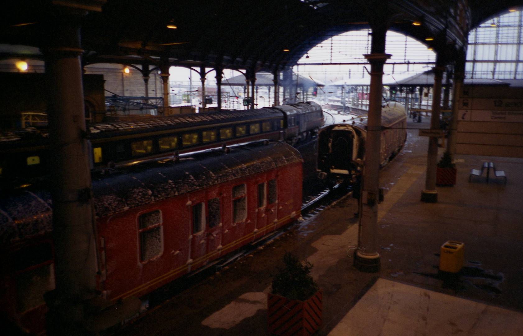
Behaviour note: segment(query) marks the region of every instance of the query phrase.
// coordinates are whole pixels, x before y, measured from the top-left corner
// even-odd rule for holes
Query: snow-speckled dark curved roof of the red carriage
[[[148,161],[93,175],[97,217],[197,191],[275,167],[302,162],[282,142],[257,141],[225,152],[212,149],[163,161]],[[178,161],[178,162],[177,162]],[[18,189],[0,198],[0,242],[37,236],[52,227],[49,191]]]

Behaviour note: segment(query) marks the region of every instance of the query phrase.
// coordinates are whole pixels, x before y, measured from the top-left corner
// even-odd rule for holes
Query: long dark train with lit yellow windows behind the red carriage
[[[253,110],[112,121],[89,124],[90,164],[102,169],[148,158],[204,150],[260,139],[295,144],[317,134],[320,105],[300,102]],[[0,181],[48,174],[49,137],[35,128],[0,134]]]

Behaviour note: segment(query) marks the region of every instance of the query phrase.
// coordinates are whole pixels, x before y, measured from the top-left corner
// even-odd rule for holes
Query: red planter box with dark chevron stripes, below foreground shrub
[[[269,332],[282,336],[312,335],[322,325],[322,290],[305,301],[268,294]]]

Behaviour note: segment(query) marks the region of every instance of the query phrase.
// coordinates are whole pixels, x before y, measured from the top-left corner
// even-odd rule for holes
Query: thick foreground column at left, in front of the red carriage
[[[45,57],[56,289],[46,293],[49,335],[87,334],[83,304],[96,296],[96,249],[79,17],[53,17]]]

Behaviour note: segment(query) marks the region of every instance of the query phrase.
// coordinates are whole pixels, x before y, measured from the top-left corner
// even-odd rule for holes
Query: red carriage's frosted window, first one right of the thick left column
[[[160,210],[146,212],[138,217],[140,260],[145,262],[162,253],[162,214]]]

